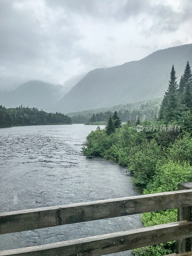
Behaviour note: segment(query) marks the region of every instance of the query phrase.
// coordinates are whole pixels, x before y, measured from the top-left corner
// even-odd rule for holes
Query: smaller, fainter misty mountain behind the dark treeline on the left
[[[32,80],[17,87],[11,92],[0,93],[0,105],[6,108],[15,108],[21,104],[25,107],[43,108],[44,111],[53,111],[53,106],[65,94],[62,85]]]

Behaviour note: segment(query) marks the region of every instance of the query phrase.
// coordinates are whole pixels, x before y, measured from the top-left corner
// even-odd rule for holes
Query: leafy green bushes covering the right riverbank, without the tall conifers
[[[152,122],[141,124],[152,127]],[[153,124],[154,125],[154,124]],[[156,121],[155,126],[160,127]],[[166,125],[167,127],[167,125]],[[177,190],[179,182],[192,181],[192,139],[186,132],[137,132],[136,125],[125,124],[108,135],[106,129],[87,136],[85,156],[102,157],[126,166],[133,183],[144,194]],[[145,227],[177,221],[177,210],[142,214]],[[176,251],[176,241],[133,250],[135,255],[165,255]]]

